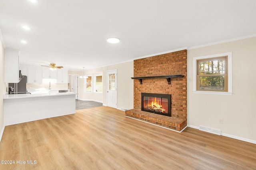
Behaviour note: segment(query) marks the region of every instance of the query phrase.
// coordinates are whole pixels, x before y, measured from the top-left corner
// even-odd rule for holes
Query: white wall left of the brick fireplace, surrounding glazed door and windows
[[[80,78],[80,99],[93,100],[102,102],[107,106],[107,71],[117,70],[117,108],[118,109],[133,109],[133,61],[126,63],[113,64],[92,70],[85,70],[84,74],[99,74],[102,73],[103,92],[84,92],[84,78]],[[83,74],[83,71],[80,72]]]

